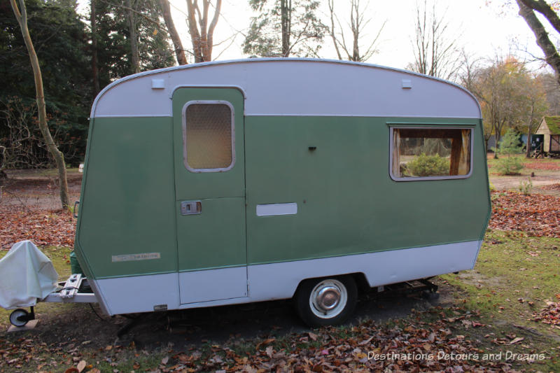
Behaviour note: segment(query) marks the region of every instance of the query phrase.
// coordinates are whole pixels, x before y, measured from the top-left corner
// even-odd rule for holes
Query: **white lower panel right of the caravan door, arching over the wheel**
[[[365,274],[370,286],[381,286],[472,269],[481,241],[381,251],[335,258],[300,260],[248,267],[251,300],[290,298],[302,279]]]

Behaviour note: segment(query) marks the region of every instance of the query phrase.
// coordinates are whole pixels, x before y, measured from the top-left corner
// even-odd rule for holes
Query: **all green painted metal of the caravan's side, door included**
[[[235,107],[232,170],[195,174],[185,168],[181,109],[195,99]],[[480,120],[243,118],[243,104],[232,88],[181,88],[173,96],[174,118],[92,120],[76,230],[76,255],[88,277],[325,258],[483,236],[490,199]],[[389,125],[395,123],[475,126],[472,176],[391,180]],[[189,200],[202,202],[200,215],[181,215],[181,202]],[[256,216],[257,204],[287,202],[297,203],[296,215]],[[139,253],[160,258],[112,261]]]

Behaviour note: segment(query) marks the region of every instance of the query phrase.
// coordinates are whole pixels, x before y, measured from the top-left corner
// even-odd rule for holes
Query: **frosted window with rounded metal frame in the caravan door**
[[[228,171],[235,164],[233,106],[189,101],[183,107],[183,158],[192,172]]]

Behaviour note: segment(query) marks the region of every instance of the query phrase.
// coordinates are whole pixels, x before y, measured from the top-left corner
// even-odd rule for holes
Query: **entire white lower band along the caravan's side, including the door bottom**
[[[167,304],[167,309],[186,309],[260,302],[290,298],[300,281],[314,277],[361,272],[370,286],[381,286],[472,269],[481,245],[482,241],[469,241],[297,262],[102,279],[94,281],[94,288],[99,290],[99,302],[111,315],[153,311],[161,304]]]

